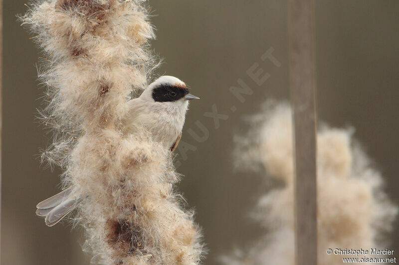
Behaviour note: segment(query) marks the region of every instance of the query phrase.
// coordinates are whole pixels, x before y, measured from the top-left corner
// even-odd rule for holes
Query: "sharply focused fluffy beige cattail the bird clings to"
[[[42,157],[82,200],[75,220],[93,261],[194,265],[200,233],[173,192],[170,151],[121,132],[132,91],[156,65],[148,10],[142,0],[39,0],[21,17],[45,54],[42,116],[54,141]]]

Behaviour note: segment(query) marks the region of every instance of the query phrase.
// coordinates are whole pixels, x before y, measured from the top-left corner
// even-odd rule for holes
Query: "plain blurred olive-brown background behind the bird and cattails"
[[[39,51],[20,27],[16,14],[25,0],[3,0],[3,133],[1,185],[1,263],[89,264],[81,251],[83,230],[66,223],[46,227],[35,205],[59,191],[59,174],[40,166],[39,148],[50,135],[35,119],[43,89],[36,81]],[[179,188],[204,233],[209,254],[204,264],[262,234],[248,217],[266,185],[261,176],[233,170],[232,138],[247,130],[243,116],[258,112],[268,98],[288,100],[287,2],[282,0],[151,0],[157,40],[153,48],[164,64],[156,75],[181,78],[201,100],[191,103],[182,140],[190,149],[178,156],[185,177]],[[317,110],[332,126],[356,128],[399,203],[399,1],[316,1]],[[269,49],[281,63],[260,57]],[[256,85],[246,71],[259,64],[270,78]],[[242,79],[252,90],[240,102],[228,88]],[[219,120],[212,112],[228,115]],[[232,111],[232,107],[235,111]],[[200,121],[209,137],[189,133]],[[398,223],[397,223],[398,224]],[[397,225],[396,225],[397,227]],[[399,230],[392,235],[399,251]]]

